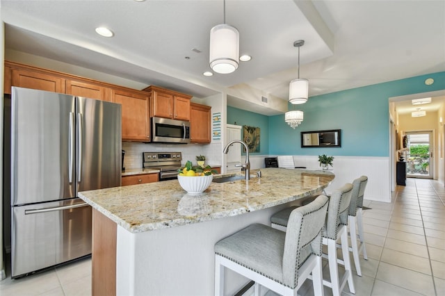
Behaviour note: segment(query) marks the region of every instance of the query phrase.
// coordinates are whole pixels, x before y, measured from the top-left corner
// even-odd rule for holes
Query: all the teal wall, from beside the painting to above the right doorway
[[[425,85],[427,78],[434,79],[435,83]],[[445,72],[309,97],[306,104],[289,105],[289,110],[295,108],[305,113],[296,129],[284,122],[284,114],[267,117],[229,106],[227,123],[260,126],[261,154],[388,157],[388,99],[436,90],[445,90]],[[325,129],[341,129],[341,147],[301,148],[301,131]]]

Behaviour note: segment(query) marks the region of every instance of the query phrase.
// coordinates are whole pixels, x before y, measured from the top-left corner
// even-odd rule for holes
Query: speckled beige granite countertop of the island
[[[331,172],[261,169],[261,178],[211,183],[188,195],[177,180],[79,192],[79,197],[127,231],[139,233],[216,220],[313,195],[334,179]],[[215,175],[229,176],[235,174]]]

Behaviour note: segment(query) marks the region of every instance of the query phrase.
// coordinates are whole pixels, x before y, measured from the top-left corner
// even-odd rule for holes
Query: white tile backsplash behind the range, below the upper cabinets
[[[122,142],[122,150],[125,151],[124,167],[128,169],[138,169],[143,165],[143,152],[181,152],[182,164],[186,161],[196,163],[197,155],[206,156],[206,164],[222,165],[221,143],[211,144],[163,144],[163,143],[140,143]]]

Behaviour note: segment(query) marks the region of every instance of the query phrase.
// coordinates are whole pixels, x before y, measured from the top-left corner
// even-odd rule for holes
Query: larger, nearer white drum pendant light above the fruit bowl
[[[220,74],[229,74],[238,69],[239,32],[225,23],[218,24],[210,30],[210,67]]]

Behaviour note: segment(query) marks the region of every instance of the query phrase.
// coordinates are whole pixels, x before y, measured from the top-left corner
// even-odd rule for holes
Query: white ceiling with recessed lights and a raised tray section
[[[226,22],[238,28],[240,54],[252,60],[211,77],[202,73],[210,69],[210,29],[224,22],[223,0],[0,5],[6,49],[195,97],[248,85],[287,100],[297,77],[293,42],[300,39],[309,96],[445,71],[445,1],[227,0]],[[111,28],[114,37],[97,35],[97,26]],[[250,110],[276,114],[252,104]]]

